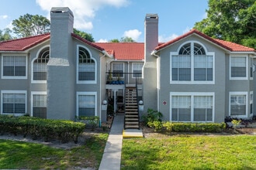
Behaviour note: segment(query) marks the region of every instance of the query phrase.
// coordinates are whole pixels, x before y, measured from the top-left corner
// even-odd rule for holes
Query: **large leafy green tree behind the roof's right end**
[[[194,28],[216,39],[256,49],[255,0],[209,0],[207,18]]]

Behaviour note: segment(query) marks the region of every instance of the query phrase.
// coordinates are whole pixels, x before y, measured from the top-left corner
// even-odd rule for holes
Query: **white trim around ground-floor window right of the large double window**
[[[231,100],[230,97],[234,95],[244,95],[245,96],[245,115],[235,115],[231,116]],[[246,91],[230,91],[229,93],[229,111],[228,115],[230,117],[246,118],[248,117],[248,93]]]

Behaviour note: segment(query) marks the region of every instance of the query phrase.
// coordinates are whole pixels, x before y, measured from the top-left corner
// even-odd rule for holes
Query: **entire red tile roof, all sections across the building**
[[[192,34],[196,34],[201,36],[204,39],[209,40],[210,42],[215,43],[217,46],[221,46],[224,49],[227,49],[230,52],[253,52],[255,53],[255,49],[241,46],[234,42],[227,42],[220,39],[213,39],[209,36],[206,36],[202,32],[199,32],[196,29],[192,29],[191,31],[185,33],[182,36],[178,36],[176,39],[172,39],[169,42],[158,43],[159,45],[155,48],[155,50],[164,49],[171,44],[178,42],[181,39],[185,39],[185,37],[191,36]],[[81,42],[85,42],[89,46],[94,47],[95,49],[99,49],[100,51],[106,50],[109,55],[112,55],[115,59],[119,60],[142,60],[144,59],[144,42],[89,42],[86,39],[81,38],[74,33],[71,33],[71,36],[75,39],[80,40]],[[30,36],[22,39],[12,39],[9,41],[0,42],[0,51],[25,51],[37,44],[50,39],[50,33],[38,35],[38,36]]]

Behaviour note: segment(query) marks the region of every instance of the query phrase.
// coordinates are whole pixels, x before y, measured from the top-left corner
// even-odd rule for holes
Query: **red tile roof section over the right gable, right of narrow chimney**
[[[181,39],[185,39],[185,37],[187,36],[191,36],[192,34],[196,34],[198,36],[202,36],[202,38],[209,40],[210,42],[215,43],[218,46],[223,47],[224,49],[227,49],[231,52],[255,52],[255,49],[249,48],[247,46],[241,46],[239,44],[236,44],[234,42],[227,42],[227,41],[223,41],[220,39],[213,39],[209,36],[206,36],[205,34],[203,34],[202,32],[199,32],[196,29],[192,29],[191,31],[183,34],[182,36],[178,36],[176,39],[172,39],[169,42],[165,42],[164,44],[161,44],[160,46],[157,46],[155,48],[155,50],[160,50],[160,49],[164,49],[167,46],[170,46],[171,44],[178,42]]]

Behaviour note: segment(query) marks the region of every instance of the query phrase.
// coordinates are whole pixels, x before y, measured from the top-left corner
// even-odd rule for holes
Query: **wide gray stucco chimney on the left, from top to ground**
[[[74,120],[75,65],[71,38],[74,22],[73,13],[69,8],[52,8],[50,21],[47,118]]]

